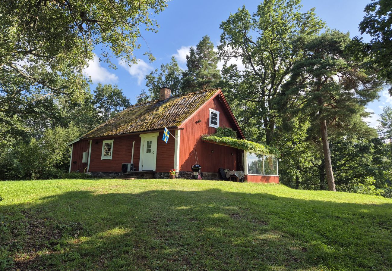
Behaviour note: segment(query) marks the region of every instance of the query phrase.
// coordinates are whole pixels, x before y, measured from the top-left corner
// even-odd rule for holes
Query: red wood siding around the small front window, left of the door
[[[140,137],[139,135],[125,135],[122,137],[105,138],[113,139],[112,159],[101,159],[103,139],[93,139],[91,142],[90,168],[91,172],[121,172],[124,163],[131,163],[132,142],[135,141],[133,164],[139,170]],[[97,144],[95,144],[97,143]]]

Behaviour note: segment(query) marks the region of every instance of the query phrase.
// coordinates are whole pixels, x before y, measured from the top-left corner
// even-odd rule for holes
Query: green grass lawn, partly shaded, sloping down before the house
[[[184,179],[6,181],[0,195],[0,269],[392,269],[382,197]]]

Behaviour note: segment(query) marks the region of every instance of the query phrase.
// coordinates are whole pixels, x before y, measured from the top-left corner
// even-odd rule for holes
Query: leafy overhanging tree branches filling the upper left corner
[[[156,31],[150,16],[165,7],[165,0],[1,1],[0,141],[10,135],[26,143],[63,126],[59,100],[89,96],[83,69],[96,46],[109,63],[113,55],[136,63],[140,27]]]

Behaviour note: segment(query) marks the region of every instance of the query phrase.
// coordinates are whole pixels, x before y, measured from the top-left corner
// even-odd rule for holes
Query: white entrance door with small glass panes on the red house
[[[142,137],[141,152],[140,152],[140,170],[155,170],[156,166],[156,143],[158,138],[158,133],[153,135],[145,134],[140,135]]]

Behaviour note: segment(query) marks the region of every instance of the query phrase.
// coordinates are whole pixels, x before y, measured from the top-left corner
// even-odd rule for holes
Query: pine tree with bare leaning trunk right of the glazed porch
[[[354,130],[363,125],[365,105],[378,97],[380,82],[345,51],[350,43],[348,33],[327,31],[301,42],[305,58],[294,63],[277,105],[283,112],[301,111],[310,116],[309,134],[321,137],[328,188],[336,191],[328,127]]]

